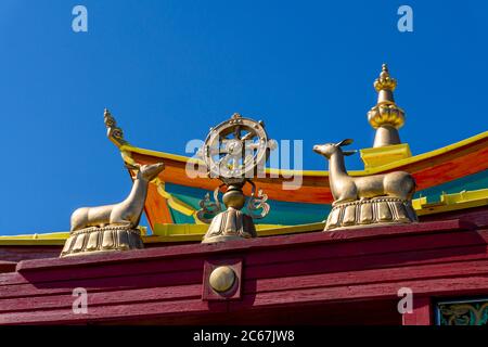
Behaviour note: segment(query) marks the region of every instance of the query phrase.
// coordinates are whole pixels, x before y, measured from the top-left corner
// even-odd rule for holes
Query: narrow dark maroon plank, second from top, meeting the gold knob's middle
[[[441,248],[434,250],[415,250],[403,254],[386,254],[375,256],[359,256],[332,259],[314,259],[313,261],[293,261],[260,266],[246,266],[245,281],[256,278],[277,278],[290,275],[305,275],[313,273],[330,273],[333,271],[365,270],[371,268],[393,268],[420,264],[438,264],[447,261],[486,259],[487,247],[475,246],[466,248]],[[102,267],[103,269],[103,267]],[[177,277],[175,277],[177,275]],[[117,288],[152,287],[163,285],[178,285],[201,283],[202,268],[192,272],[152,274],[126,274],[125,277],[104,277],[49,282],[40,284],[20,284],[0,286],[0,297],[22,297],[28,295],[49,295],[68,293],[74,287],[84,286],[90,291],[114,291]]]

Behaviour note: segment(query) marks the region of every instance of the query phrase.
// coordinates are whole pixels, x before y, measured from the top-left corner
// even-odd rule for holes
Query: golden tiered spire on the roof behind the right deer
[[[377,103],[368,112],[368,120],[376,129],[373,147],[401,143],[398,129],[404,124],[404,112],[395,103],[393,92],[396,87],[397,80],[389,76],[388,67],[383,64],[380,77],[374,81]]]

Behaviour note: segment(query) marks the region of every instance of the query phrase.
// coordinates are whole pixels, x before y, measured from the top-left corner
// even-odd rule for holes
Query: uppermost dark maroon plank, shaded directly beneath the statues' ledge
[[[401,253],[415,252],[418,254],[423,249],[433,248],[447,248],[457,246],[453,252],[459,250],[460,246],[472,246],[477,244],[485,244],[484,239],[476,232],[462,232],[462,233],[442,233],[435,235],[421,235],[418,237],[409,237],[406,240],[400,239],[386,239],[386,240],[363,240],[356,243],[339,243],[339,244],[322,244],[318,246],[309,247],[295,247],[295,249],[280,249],[265,252],[258,249],[249,250],[246,257],[247,274],[254,278],[252,271],[254,267],[259,267],[259,271],[262,273],[270,273],[269,275],[287,275],[286,272],[280,272],[281,269],[285,269],[288,272],[292,269],[298,268],[297,271],[313,271],[321,272],[323,269],[326,271],[345,271],[347,269],[354,269],[362,266],[377,266],[386,267],[398,262],[398,257]],[[485,248],[483,248],[483,253]],[[368,262],[368,258],[360,259],[367,255],[390,255],[388,257],[381,258],[381,261]],[[236,255],[236,254],[234,254]],[[413,256],[412,256],[413,257]],[[343,259],[345,258],[345,259]],[[324,264],[324,268],[319,265],[324,259],[331,259]],[[341,261],[338,261],[341,259]],[[300,260],[301,262],[297,262]],[[68,268],[54,268],[46,269],[44,271],[29,271],[24,275],[31,283],[43,283],[53,281],[67,281],[74,279],[94,279],[94,278],[113,278],[120,275],[131,275],[139,273],[155,273],[155,272],[182,272],[191,270],[201,270],[203,268],[202,259],[189,258],[189,259],[169,259],[157,261],[134,261],[127,264],[108,264],[98,265],[90,267],[68,267]],[[310,262],[307,265],[306,262]],[[285,262],[279,265],[279,262]],[[296,262],[294,267],[290,267],[290,262]],[[349,266],[352,264],[352,267]],[[251,272],[249,272],[251,271]],[[266,274],[265,274],[266,275]],[[24,282],[24,281],[23,281]],[[1,292],[1,290],[0,290]]]

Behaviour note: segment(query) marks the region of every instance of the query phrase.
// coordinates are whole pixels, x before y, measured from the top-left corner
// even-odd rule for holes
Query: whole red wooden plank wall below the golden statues
[[[432,324],[436,299],[488,294],[487,215],[23,260],[0,274],[0,323]],[[205,261],[227,259],[242,260],[241,298],[203,300]],[[413,313],[397,311],[401,287]]]

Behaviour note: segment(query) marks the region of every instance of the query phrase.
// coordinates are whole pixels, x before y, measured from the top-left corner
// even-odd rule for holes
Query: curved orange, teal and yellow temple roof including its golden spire
[[[412,203],[419,216],[488,205],[488,160],[480,159],[488,157],[488,131],[412,155],[409,144],[401,143],[398,136],[398,129],[404,124],[404,112],[396,105],[393,95],[396,86],[396,79],[384,64],[374,81],[377,103],[368,113],[368,120],[376,131],[375,142],[372,147],[360,150],[364,169],[348,174],[361,177],[394,170],[410,172],[418,185]],[[165,164],[165,170],[149,184],[144,211],[151,232],[140,227],[144,243],[202,240],[208,226],[197,214],[204,197],[216,192],[220,181],[192,172],[192,166],[205,168],[196,156],[190,158],[132,145],[108,110],[103,116],[106,136],[118,147],[132,180],[133,165]],[[271,206],[265,218],[255,221],[259,236],[323,229],[333,202],[329,171],[266,168],[265,174],[253,179]],[[299,185],[282,188],[283,183],[293,185],[296,176],[303,177]],[[249,196],[251,189],[244,189],[244,194]],[[67,232],[0,236],[0,245],[61,245],[67,236]]]

